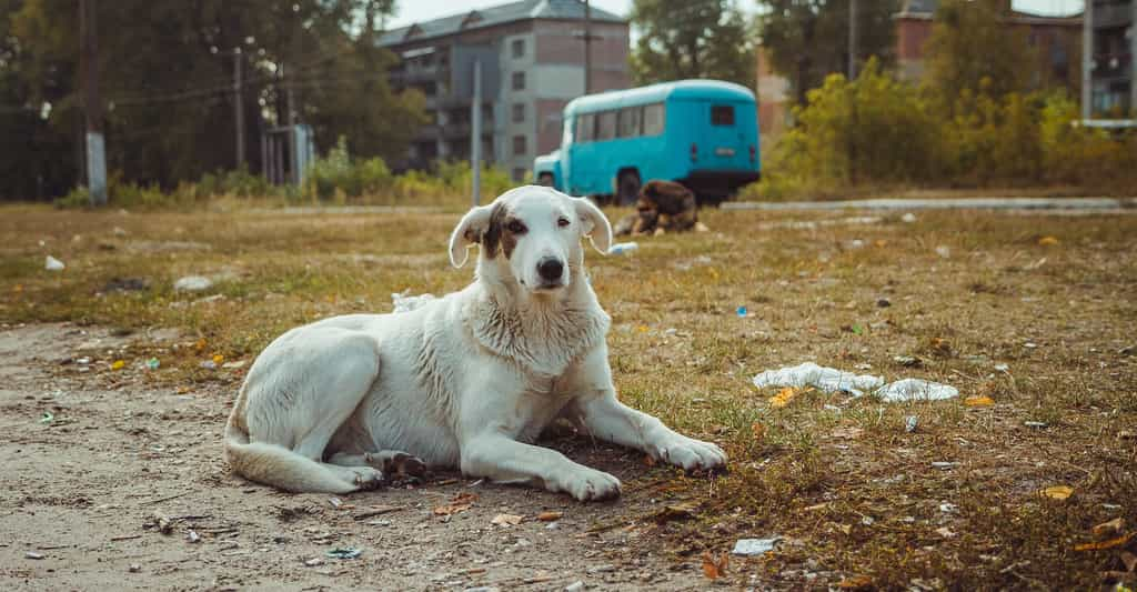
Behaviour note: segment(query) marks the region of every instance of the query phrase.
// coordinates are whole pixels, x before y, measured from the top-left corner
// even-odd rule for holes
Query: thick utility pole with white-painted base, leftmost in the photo
[[[86,187],[91,206],[107,205],[107,155],[99,99],[99,42],[96,0],[80,0],[78,28],[83,77],[83,114],[86,116]]]

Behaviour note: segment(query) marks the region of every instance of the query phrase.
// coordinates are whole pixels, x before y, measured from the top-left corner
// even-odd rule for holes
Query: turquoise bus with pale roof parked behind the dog
[[[533,162],[540,184],[622,205],[650,180],[682,183],[700,202],[719,203],[761,170],[754,93],[704,80],[574,99],[561,148]]]

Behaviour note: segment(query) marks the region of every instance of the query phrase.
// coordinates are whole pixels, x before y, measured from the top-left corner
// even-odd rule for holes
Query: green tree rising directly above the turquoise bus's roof
[[[746,17],[730,0],[636,0],[636,82],[717,78],[754,85],[754,45]]]

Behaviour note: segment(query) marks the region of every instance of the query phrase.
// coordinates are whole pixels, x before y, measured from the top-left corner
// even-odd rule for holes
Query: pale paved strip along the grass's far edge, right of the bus
[[[1137,198],[948,198],[948,199],[861,199],[846,201],[729,201],[724,210],[1103,210],[1137,211]]]

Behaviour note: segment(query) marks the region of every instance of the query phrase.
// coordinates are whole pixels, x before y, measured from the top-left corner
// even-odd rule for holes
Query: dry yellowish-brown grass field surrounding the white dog
[[[161,359],[147,376],[164,384],[235,384],[239,373],[198,362],[214,352],[249,359],[299,323],[388,311],[391,292],[440,293],[470,280],[446,260],[453,214],[0,214],[0,320],[179,327],[186,344],[204,339],[132,350],[131,365]],[[738,537],[782,536],[765,558],[736,559],[728,581],[738,585],[752,575],[778,587],[1105,583],[1101,573],[1122,569],[1124,547],[1074,547],[1119,516],[1123,532],[1137,527],[1137,361],[1120,352],[1137,342],[1137,217],[833,216],[706,212],[712,233],[590,258],[614,319],[622,398],[732,458],[713,481],[645,468],[630,494],[700,509],[662,525],[629,517],[638,540],[694,558]],[[825,220],[836,222],[802,224]],[[1041,245],[1043,236],[1059,243]],[[68,268],[43,270],[47,253]],[[207,294],[224,298],[174,293],[188,274],[221,275]],[[127,277],[149,287],[106,291]],[[882,298],[891,306],[878,306]],[[753,315],[739,317],[739,306]],[[902,355],[922,364],[903,367]],[[806,360],[937,380],[995,405],[804,393],[775,409],[773,392],[750,385],[763,369]],[[1010,369],[996,370],[1001,362]],[[915,433],[904,430],[911,415]],[[1038,494],[1055,484],[1073,495]],[[869,580],[853,580],[861,575]]]

